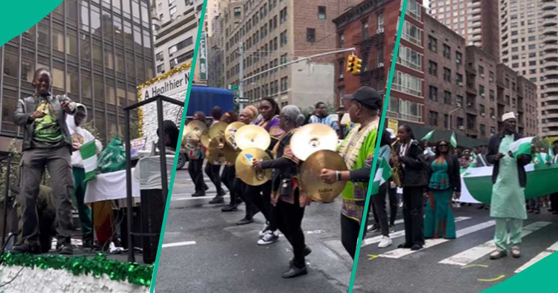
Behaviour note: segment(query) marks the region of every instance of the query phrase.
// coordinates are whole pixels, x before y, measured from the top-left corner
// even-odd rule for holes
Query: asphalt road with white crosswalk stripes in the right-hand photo
[[[458,238],[427,240],[426,248],[413,253],[409,253],[410,249],[397,249],[404,241],[397,234],[401,232],[393,234],[393,244],[387,248],[378,248],[374,238],[378,233],[367,235],[360,251],[354,292],[479,292],[558,249],[558,216],[546,208],[541,209],[541,214],[528,214],[522,256],[513,258],[508,254],[500,260],[488,257],[494,249],[490,243],[494,225],[488,210],[462,206],[455,209],[455,217]],[[397,230],[402,229],[403,224],[398,224]]]

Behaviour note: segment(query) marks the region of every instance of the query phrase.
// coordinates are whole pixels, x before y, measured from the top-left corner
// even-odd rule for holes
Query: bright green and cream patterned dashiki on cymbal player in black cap
[[[350,130],[345,140],[338,147],[338,153],[343,157],[347,169],[350,171],[364,167],[364,162],[374,153],[376,136],[378,135],[379,119],[361,128],[359,124]],[[341,213],[345,217],[360,223],[366,200],[368,182],[347,182],[343,189],[343,208]]]

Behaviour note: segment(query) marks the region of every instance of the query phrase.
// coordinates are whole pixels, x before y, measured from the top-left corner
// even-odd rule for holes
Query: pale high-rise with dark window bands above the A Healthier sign
[[[157,75],[194,57],[203,0],[154,0],[155,68]]]

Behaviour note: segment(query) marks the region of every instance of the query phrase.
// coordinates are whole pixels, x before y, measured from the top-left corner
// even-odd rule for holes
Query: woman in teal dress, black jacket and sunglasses
[[[436,153],[430,157],[428,190],[424,218],[425,238],[455,238],[455,218],[451,198],[461,195],[461,175],[458,158],[451,155],[448,141],[436,144]]]

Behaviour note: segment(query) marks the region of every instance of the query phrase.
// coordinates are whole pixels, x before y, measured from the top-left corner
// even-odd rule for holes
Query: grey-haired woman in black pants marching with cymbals
[[[301,193],[299,188],[299,159],[290,148],[290,141],[295,129],[304,122],[304,116],[295,105],[287,105],[279,115],[279,127],[283,135],[273,147],[275,160],[254,161],[256,170],[273,169],[271,202],[276,207],[277,226],[291,243],[294,258],[290,268],[283,273],[283,278],[306,275],[304,257],[311,249],[304,243],[301,223],[304,208],[310,204],[310,198]]]

